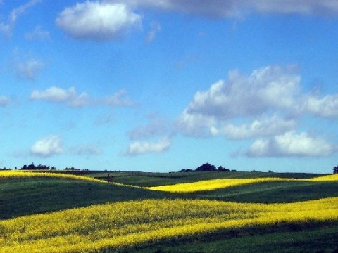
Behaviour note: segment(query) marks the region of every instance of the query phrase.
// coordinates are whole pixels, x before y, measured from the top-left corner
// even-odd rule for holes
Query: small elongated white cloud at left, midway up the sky
[[[54,103],[66,103],[70,107],[82,107],[89,104],[87,93],[77,95],[74,87],[61,89],[56,86],[44,91],[32,91],[30,100],[46,100]]]

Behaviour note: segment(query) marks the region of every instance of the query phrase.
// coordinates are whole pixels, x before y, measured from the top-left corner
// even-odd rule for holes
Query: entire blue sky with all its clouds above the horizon
[[[331,173],[338,4],[0,0],[0,167]]]

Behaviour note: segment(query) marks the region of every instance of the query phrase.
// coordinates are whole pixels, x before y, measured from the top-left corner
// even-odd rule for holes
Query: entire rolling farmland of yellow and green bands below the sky
[[[4,171],[0,252],[337,252],[337,181],[259,172]]]

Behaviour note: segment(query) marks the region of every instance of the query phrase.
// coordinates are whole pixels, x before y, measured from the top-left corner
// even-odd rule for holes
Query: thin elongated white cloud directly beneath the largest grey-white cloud
[[[294,129],[295,126],[296,121],[294,119],[280,119],[275,115],[270,118],[265,117],[262,120],[256,119],[249,125],[234,126],[233,124],[226,124],[220,129],[212,126],[211,134],[213,136],[223,135],[230,139],[245,139],[283,134]]]

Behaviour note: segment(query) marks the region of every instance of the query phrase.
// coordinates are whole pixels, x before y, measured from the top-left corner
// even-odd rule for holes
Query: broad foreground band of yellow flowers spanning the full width
[[[338,197],[287,204],[141,200],[0,221],[0,252],[94,252],[280,222],[338,221]]]

